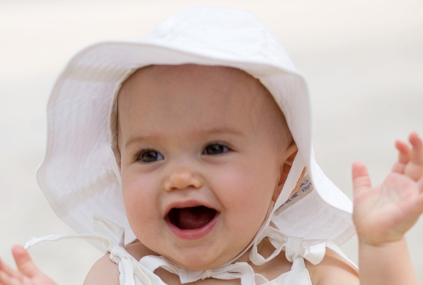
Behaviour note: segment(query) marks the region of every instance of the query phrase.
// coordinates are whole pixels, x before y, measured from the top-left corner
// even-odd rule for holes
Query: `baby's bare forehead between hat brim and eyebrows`
[[[242,70],[222,66],[148,66],[120,90],[120,128],[134,131],[177,126],[255,128],[266,112],[280,112],[271,95]],[[277,110],[276,110],[277,109]]]

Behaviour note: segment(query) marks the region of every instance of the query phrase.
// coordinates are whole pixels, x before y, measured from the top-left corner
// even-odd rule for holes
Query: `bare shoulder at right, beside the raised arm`
[[[306,261],[313,285],[359,285],[359,277],[355,268],[335,251],[326,248],[326,255],[316,265]]]

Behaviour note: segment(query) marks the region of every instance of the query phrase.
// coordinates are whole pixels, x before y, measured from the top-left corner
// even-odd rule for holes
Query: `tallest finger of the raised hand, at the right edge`
[[[411,150],[411,161],[406,165],[404,174],[417,181],[423,176],[423,143],[416,132],[411,132],[409,140],[413,150]]]

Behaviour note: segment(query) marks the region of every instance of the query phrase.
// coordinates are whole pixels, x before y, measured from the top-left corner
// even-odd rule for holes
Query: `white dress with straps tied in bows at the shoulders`
[[[270,257],[265,259],[257,253],[256,245],[253,245],[250,252],[250,260],[257,265],[264,264],[279,255],[281,250],[285,250],[287,259],[292,262],[290,271],[270,281],[263,275],[254,273],[252,266],[246,262],[236,262],[207,271],[189,271],[172,264],[160,256],[149,255],[142,257],[140,260],[135,259],[124,248],[124,228],[101,216],[94,216],[93,220],[93,228],[98,235],[79,234],[33,237],[25,244],[25,248],[28,249],[39,242],[58,241],[60,239],[77,238],[101,242],[107,248],[107,252],[110,253],[111,260],[118,264],[120,285],[167,285],[154,273],[158,267],[179,275],[182,284],[214,277],[216,279],[240,278],[242,285],[312,285],[304,259],[307,259],[312,264],[318,264],[325,255],[326,247],[344,257],[347,262],[357,269],[357,266],[330,240],[305,240],[299,237],[286,237],[276,228],[269,226],[263,232],[261,239],[267,237],[276,250]]]

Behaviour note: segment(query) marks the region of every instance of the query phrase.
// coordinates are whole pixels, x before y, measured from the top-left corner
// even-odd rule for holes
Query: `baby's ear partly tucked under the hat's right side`
[[[296,144],[290,145],[287,150],[285,151],[285,157],[287,157],[284,161],[282,161],[281,165],[281,176],[279,178],[279,182],[274,189],[272,201],[276,203],[279,195],[281,194],[283,185],[285,185],[285,181],[288,178],[288,174],[290,173],[292,163],[294,162],[295,156],[298,153],[298,148]],[[297,184],[295,185],[294,190],[292,190],[290,197],[297,192],[299,186],[301,185],[301,181],[304,179],[304,175],[306,175],[306,168],[303,169],[301,176],[299,177]]]

